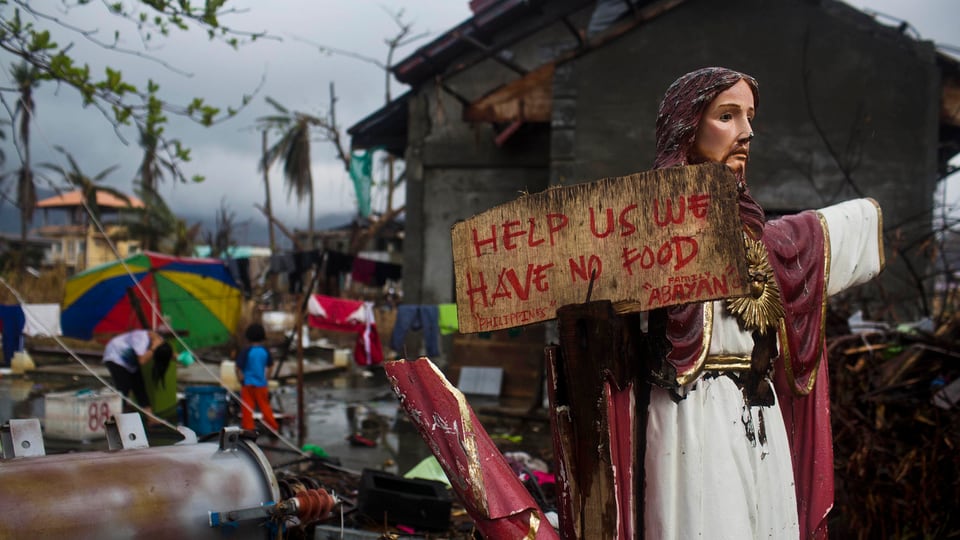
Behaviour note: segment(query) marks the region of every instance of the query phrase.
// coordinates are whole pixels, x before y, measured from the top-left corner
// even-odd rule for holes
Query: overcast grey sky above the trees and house
[[[922,39],[960,47],[958,0],[853,0],[848,3],[883,14],[880,21],[885,24],[895,25],[898,20],[905,20]],[[54,6],[50,9],[74,26],[100,29],[104,39],[117,27],[124,46],[143,49],[136,31],[129,25],[118,25],[100,3],[69,13],[57,11],[60,2],[35,5],[47,4]],[[384,74],[380,68],[347,56],[321,54],[309,43],[383,60],[387,53],[384,40],[397,31],[388,10],[403,9],[404,20],[412,23],[413,33],[428,36],[401,49],[396,55],[401,59],[470,16],[468,0],[232,0],[228,5],[240,12],[225,17],[222,23],[250,31],[265,30],[282,41],[259,40],[233,50],[224,44],[209,42],[205,34],[197,30],[160,39],[150,54],[189,74],[184,75],[156,62],[105,52],[76,34],[55,33],[55,39],[61,44],[75,42],[74,53],[90,62],[94,73],[102,73],[105,65],[121,66],[124,77],[135,84],[142,84],[146,78],[160,82],[163,96],[173,102],[184,103],[201,96],[214,105],[236,105],[244,93],[253,92],[264,79],[251,104],[224,124],[205,129],[171,117],[167,133],[179,137],[192,149],[193,160],[184,167],[185,172],[201,174],[206,181],[167,184],[162,191],[177,213],[192,220],[200,216],[211,219],[223,200],[238,221],[264,223],[263,217],[253,209],[253,204],[262,202],[264,196],[256,166],[260,134],[253,129],[256,118],[272,112],[264,97],[273,97],[293,110],[325,114],[329,108],[328,88],[333,82],[338,97],[337,120],[344,130],[383,105]],[[0,53],[0,65],[4,66],[0,71],[2,86],[10,86],[6,66],[12,61],[10,55]],[[396,81],[392,82],[394,96],[406,90]],[[67,88],[41,86],[36,103],[34,163],[57,161],[62,164],[53,147],[63,146],[87,173],[95,174],[119,165],[108,183],[132,192],[141,157],[135,131],[123,133],[127,138],[124,144],[99,112],[81,109],[79,98]],[[9,147],[9,141],[5,146]],[[6,154],[6,169],[18,167],[16,153],[8,148]],[[318,143],[312,149],[312,157],[317,219],[331,213],[354,212],[353,186],[335,160],[333,147]],[[272,171],[271,183],[276,213],[288,226],[305,227],[306,206],[301,208],[288,201],[279,170]],[[955,196],[950,197],[954,200]],[[11,211],[9,205],[0,203],[0,212]],[[240,240],[249,241],[242,236]]]

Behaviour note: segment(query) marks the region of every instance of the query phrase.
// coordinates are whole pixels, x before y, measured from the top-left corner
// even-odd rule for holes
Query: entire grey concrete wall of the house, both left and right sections
[[[575,23],[585,26],[588,17],[581,12]],[[557,24],[509,54],[533,68],[574,43]],[[649,169],[663,92],[709,65],[760,81],[748,180],[765,208],[819,208],[862,194],[880,202],[888,231],[901,229],[903,245],[929,231],[939,106],[929,43],[827,0],[688,0],[559,66],[552,125],[525,126],[502,148],[491,126],[462,121],[454,93],[474,100],[518,74],[488,59],[448,77],[453,93],[434,83],[416,89],[406,156],[405,301],[453,300],[450,227],[457,220],[522,190]],[[889,245],[896,234],[888,235],[893,264],[882,283],[915,300],[891,249],[897,246]],[[858,291],[876,297],[876,287]]]

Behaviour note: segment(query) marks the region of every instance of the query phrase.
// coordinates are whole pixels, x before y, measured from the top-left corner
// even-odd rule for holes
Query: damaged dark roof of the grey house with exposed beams
[[[656,18],[685,0],[473,0],[471,8],[474,15],[457,26],[446,31],[430,43],[418,48],[396,64],[391,71],[402,83],[417,88],[423,82],[437,76],[448,77],[473,65],[493,59],[509,62],[500,53],[521,39],[554,24],[563,22],[571,32],[577,35],[580,46],[574,51],[557,51],[554,58],[544,59],[539,66],[524,69],[520,66],[508,66],[518,71],[518,80],[500,88],[491,88],[490,92],[472,103],[465,103],[467,120],[474,121],[541,121],[543,114],[550,114],[549,99],[534,96],[536,103],[547,103],[546,111],[538,110],[536,119],[529,117],[529,111],[515,114],[520,105],[526,105],[525,95],[531,92],[542,94],[541,81],[535,76],[539,68],[547,64],[561,63],[577,54],[603,46],[616,39],[635,26]],[[595,27],[598,21],[591,21],[589,38],[584,38],[581,30],[573,27],[569,17],[576,11],[595,4],[594,15],[603,19],[603,28]],[[612,9],[619,9],[619,14]],[[842,2],[832,2],[829,6],[834,15],[847,16],[869,21],[890,33],[903,34],[904,24],[890,27],[879,20],[877,14],[864,13]],[[610,9],[608,9],[610,8]],[[610,13],[600,13],[606,9]],[[630,16],[632,14],[632,16]],[[627,15],[626,20],[623,16]],[[594,17],[596,18],[596,17]],[[593,34],[598,34],[596,37]],[[909,36],[905,39],[916,41]],[[468,56],[474,53],[472,56]],[[937,51],[937,63],[943,76],[940,115],[940,156],[938,163],[947,167],[952,156],[960,153],[960,110],[956,106],[960,96],[960,69],[958,62],[943,51]],[[533,72],[533,73],[530,73]],[[524,79],[527,79],[526,81]],[[384,146],[396,156],[403,156],[407,140],[407,104],[410,92],[391,101],[381,109],[374,111],[363,120],[351,126],[347,132],[351,136],[353,148],[371,148]],[[504,111],[507,111],[504,114]],[[512,111],[512,112],[511,112]],[[944,171],[941,171],[944,172]]]

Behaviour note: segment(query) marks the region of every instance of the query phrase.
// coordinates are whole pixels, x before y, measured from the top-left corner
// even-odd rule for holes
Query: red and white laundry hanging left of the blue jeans
[[[373,302],[314,294],[307,301],[307,322],[314,328],[356,332],[354,361],[361,366],[383,362],[383,345],[374,322]]]

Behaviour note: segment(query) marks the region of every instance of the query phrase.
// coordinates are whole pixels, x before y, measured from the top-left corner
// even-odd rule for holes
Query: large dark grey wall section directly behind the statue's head
[[[725,66],[760,83],[747,179],[765,208],[870,196],[888,244],[900,233],[915,244],[929,232],[937,180],[934,51],[846,6],[817,4],[690,0],[565,65],[555,77],[554,124],[566,132],[553,135],[552,182],[649,169],[663,92],[684,73]],[[916,300],[895,247],[882,283]],[[859,293],[878,295],[872,287]]]

